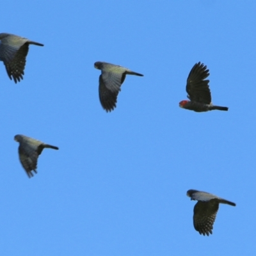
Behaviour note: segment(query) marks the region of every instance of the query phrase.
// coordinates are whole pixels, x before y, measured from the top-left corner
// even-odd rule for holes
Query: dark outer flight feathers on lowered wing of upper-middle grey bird
[[[102,75],[99,77],[99,97],[100,97],[100,104],[102,108],[106,109],[106,111],[111,111],[116,108],[116,99],[118,90],[109,90],[102,79]]]

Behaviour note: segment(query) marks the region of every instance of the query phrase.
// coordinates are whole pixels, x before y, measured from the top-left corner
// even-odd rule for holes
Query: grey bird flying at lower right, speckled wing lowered
[[[219,204],[236,206],[233,202],[195,189],[189,189],[187,196],[189,196],[191,200],[198,200],[194,207],[193,223],[195,230],[198,231],[200,235],[203,234],[204,236],[212,234]]]

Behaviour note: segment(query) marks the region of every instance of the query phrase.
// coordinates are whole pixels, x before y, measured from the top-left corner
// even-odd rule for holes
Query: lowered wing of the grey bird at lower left
[[[20,143],[19,145],[19,158],[20,163],[26,170],[28,177],[33,177],[32,171],[36,173],[38,153],[36,148],[29,145],[29,143]]]

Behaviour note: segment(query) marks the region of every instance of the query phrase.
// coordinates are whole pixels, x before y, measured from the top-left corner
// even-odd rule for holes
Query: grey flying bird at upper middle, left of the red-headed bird
[[[116,108],[117,95],[121,90],[126,75],[143,76],[128,68],[97,61],[94,67],[101,70],[99,77],[99,97],[102,108],[107,112]]]

